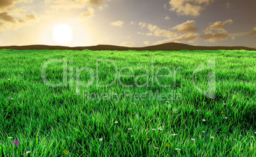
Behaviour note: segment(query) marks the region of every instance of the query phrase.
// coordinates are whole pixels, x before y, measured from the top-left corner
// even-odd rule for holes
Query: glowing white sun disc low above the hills
[[[53,39],[57,43],[66,44],[71,41],[73,36],[73,31],[69,25],[59,24],[56,25],[53,29]]]

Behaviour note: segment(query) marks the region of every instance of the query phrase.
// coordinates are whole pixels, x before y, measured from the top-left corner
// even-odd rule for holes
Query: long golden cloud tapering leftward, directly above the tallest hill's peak
[[[180,43],[181,41],[188,41],[188,43],[194,43],[199,37],[200,37],[199,34],[183,34],[182,36],[179,36],[178,38],[164,39],[162,41],[157,41],[152,44],[164,44],[164,43],[169,43],[169,42]]]

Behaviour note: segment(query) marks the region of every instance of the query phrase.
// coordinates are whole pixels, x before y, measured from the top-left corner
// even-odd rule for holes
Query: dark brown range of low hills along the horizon
[[[179,50],[249,50],[256,51],[256,48],[248,48],[244,46],[192,46],[189,44],[181,43],[165,43],[154,46],[146,47],[125,47],[114,46],[108,44],[98,44],[97,46],[80,46],[80,47],[68,47],[68,46],[49,46],[49,45],[27,45],[27,46],[0,46],[0,49],[13,49],[13,50],[162,50],[162,51],[179,51]]]

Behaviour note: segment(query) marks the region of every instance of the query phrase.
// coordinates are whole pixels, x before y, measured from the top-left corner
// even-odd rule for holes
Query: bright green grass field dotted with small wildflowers
[[[63,62],[42,79],[52,59]],[[0,60],[0,156],[256,156],[256,51],[0,50]],[[211,71],[214,99],[195,88],[208,89]]]

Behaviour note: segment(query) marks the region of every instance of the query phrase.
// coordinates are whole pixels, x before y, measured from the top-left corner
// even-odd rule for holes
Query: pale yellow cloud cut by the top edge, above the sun
[[[45,3],[50,4],[50,8],[59,10],[70,10],[75,8],[85,8],[86,6],[92,5],[95,7],[100,7],[101,4],[104,3],[105,0],[45,0]],[[109,0],[108,0],[109,1]],[[102,8],[101,8],[102,9]]]

